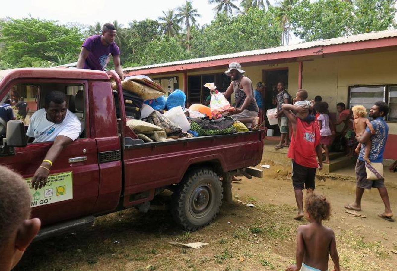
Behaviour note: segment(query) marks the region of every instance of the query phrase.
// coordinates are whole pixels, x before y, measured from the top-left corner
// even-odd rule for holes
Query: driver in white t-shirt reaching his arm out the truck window
[[[47,182],[50,168],[61,151],[75,141],[81,133],[81,123],[77,116],[66,108],[66,96],[52,91],[45,97],[45,107],[31,116],[26,135],[33,137],[33,143],[54,141],[44,160],[32,178],[36,190]]]

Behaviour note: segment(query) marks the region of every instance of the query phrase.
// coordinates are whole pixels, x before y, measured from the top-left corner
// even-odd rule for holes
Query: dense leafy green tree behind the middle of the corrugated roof
[[[210,25],[192,28],[192,54],[205,57],[279,46],[282,30],[274,14],[273,7],[236,17],[220,13]]]

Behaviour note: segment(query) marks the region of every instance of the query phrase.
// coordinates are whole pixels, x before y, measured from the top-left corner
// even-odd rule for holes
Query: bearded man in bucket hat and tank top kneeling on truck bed
[[[230,86],[223,95],[227,98],[234,92],[235,110],[228,115],[234,120],[243,122],[247,127],[255,128],[259,124],[258,105],[254,98],[254,88],[251,80],[244,76],[240,63],[232,62],[225,74],[231,78]]]

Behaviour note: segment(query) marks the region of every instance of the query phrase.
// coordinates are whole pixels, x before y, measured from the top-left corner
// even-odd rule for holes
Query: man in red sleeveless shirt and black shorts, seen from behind
[[[298,92],[307,93],[306,90],[298,90]],[[320,129],[313,116],[308,118],[308,106],[299,107],[284,103],[282,109],[292,125],[288,157],[292,159],[292,185],[298,206],[298,214],[294,219],[302,219],[304,217],[303,189],[313,191],[316,188],[314,185],[316,169],[322,169]],[[296,111],[297,115],[291,110]]]

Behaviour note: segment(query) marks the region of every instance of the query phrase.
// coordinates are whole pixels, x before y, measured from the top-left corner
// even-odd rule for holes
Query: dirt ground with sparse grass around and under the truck
[[[289,166],[262,164],[271,164],[264,177],[233,183],[233,204],[224,204],[199,231],[183,231],[166,210],[124,210],[98,218],[90,229],[33,243],[16,270],[285,270],[295,263],[296,229],[306,221],[292,219],[297,209]],[[367,218],[352,217],[343,204],[352,202],[354,183],[320,179],[316,191],[332,206],[324,225],[335,231],[342,269],[397,270],[397,222],[376,216],[383,210],[378,191],[364,194],[360,213]],[[396,196],[390,188],[395,214]],[[174,240],[209,245],[168,244]]]

